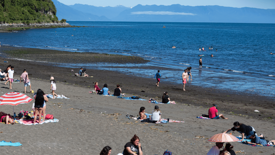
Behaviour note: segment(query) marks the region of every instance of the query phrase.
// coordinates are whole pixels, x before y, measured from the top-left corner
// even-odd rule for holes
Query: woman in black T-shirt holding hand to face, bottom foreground
[[[126,143],[123,150],[123,155],[142,155],[141,143],[139,137],[135,134],[130,142]]]

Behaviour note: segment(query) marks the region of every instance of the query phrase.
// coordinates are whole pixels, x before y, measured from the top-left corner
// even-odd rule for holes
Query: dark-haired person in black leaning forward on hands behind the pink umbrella
[[[238,131],[242,134],[242,141],[244,139],[244,135],[246,136],[246,139],[250,139],[251,135],[254,134],[254,127],[252,126],[247,126],[242,123],[239,123],[238,121],[233,123],[234,127],[231,129],[226,130],[224,133],[230,132],[230,131]],[[257,135],[257,134],[256,134]],[[263,138],[263,134],[261,134],[259,137]]]

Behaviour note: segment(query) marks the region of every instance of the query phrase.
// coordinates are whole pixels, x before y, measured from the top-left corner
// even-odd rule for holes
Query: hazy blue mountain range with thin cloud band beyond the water
[[[146,22],[214,22],[275,23],[275,9],[235,8],[223,6],[146,5],[130,8],[95,7],[84,4],[67,6],[52,0],[56,16],[68,21],[146,21]]]

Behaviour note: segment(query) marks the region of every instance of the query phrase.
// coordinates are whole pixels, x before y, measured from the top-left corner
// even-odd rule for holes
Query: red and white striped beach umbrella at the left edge
[[[18,105],[21,103],[31,102],[31,97],[28,97],[22,93],[6,93],[0,97],[0,105],[9,104],[9,105]]]

